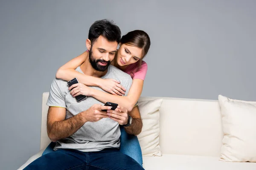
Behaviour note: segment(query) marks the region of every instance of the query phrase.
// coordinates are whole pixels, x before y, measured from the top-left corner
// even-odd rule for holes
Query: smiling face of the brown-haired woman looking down
[[[120,66],[133,64],[142,58],[142,53],[142,48],[122,44],[117,51],[117,64]]]

